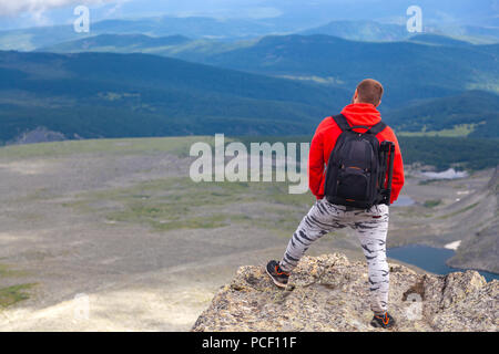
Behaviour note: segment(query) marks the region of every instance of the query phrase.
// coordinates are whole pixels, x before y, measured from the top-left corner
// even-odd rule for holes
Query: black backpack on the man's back
[[[334,116],[343,131],[326,168],[324,194],[335,205],[369,209],[381,204],[386,167],[376,135],[386,128],[379,122],[373,127],[350,126],[343,114]],[[365,133],[354,129],[364,128]],[[389,188],[389,187],[388,187]],[[389,201],[388,201],[389,204]]]

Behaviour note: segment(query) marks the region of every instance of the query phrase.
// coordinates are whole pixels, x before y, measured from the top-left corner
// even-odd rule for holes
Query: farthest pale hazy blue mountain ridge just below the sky
[[[303,20],[303,19],[302,19]],[[32,51],[62,42],[100,34],[146,34],[150,37],[185,35],[196,40],[241,41],[272,34],[326,34],[356,41],[400,41],[409,39],[405,22],[374,20],[296,21],[293,18],[217,19],[208,17],[160,15],[139,19],[106,19],[92,22],[90,32],[77,33],[72,24],[58,24],[0,31],[0,50]],[[499,42],[499,27],[440,23],[425,25],[425,34],[439,34],[473,42]]]

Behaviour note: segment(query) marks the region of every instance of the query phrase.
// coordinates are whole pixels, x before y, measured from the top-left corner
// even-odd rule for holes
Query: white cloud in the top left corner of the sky
[[[2,0],[0,2],[0,17],[16,17],[30,13],[33,18],[42,18],[43,12],[68,6],[102,6],[118,0]]]

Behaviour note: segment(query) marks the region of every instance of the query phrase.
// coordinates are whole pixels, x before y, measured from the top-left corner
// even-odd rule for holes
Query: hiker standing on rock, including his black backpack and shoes
[[[289,240],[283,259],[269,261],[266,271],[276,285],[286,287],[289,273],[314,241],[350,227],[367,259],[371,325],[387,329],[395,324],[388,314],[388,206],[404,186],[404,166],[397,137],[377,110],[383,92],[379,82],[364,80],[353,103],[317,127],[308,158],[309,188],[317,201]]]

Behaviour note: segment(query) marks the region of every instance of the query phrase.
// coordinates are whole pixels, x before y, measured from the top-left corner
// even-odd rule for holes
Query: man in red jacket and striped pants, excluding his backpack
[[[365,126],[373,128],[381,121],[377,107],[381,103],[383,85],[375,80],[364,80],[356,88],[353,103],[342,114],[350,127]],[[381,125],[377,125],[381,126]],[[357,131],[358,129],[358,131]],[[354,128],[366,133],[367,129]],[[388,232],[388,206],[374,205],[369,209],[352,206],[334,205],[325,196],[325,166],[329,162],[342,128],[333,117],[325,118],[312,139],[308,158],[309,188],[317,198],[316,204],[302,220],[298,229],[289,240],[281,262],[269,261],[266,268],[268,275],[278,287],[286,287],[289,273],[297,266],[308,247],[335,229],[350,227],[356,230],[369,273],[370,308],[374,312],[371,325],[391,327],[395,320],[388,314],[389,269],[386,261],[386,237]],[[375,134],[375,133],[373,133]],[[395,144],[394,173],[390,201],[395,201],[404,186],[404,166],[397,138],[388,126],[376,134],[379,142]],[[377,144],[377,143],[376,143]]]

